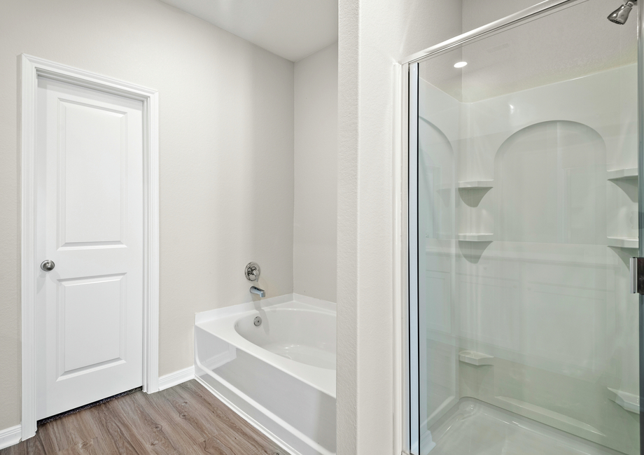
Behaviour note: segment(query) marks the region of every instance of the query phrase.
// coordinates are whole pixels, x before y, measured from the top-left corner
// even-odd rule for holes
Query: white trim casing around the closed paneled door
[[[159,112],[158,91],[49,60],[20,55],[22,440],[36,434],[36,276],[38,258],[36,97],[45,77],[135,99],[143,104],[143,389],[159,386]]]

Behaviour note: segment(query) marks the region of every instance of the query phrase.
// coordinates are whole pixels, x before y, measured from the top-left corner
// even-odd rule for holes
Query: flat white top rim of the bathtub
[[[305,363],[291,360],[290,358],[282,357],[279,354],[267,351],[267,349],[264,349],[244,338],[237,332],[237,330],[235,330],[236,321],[246,316],[257,314],[258,311],[262,310],[286,309],[286,307],[290,307],[288,309],[331,314],[333,311],[330,308],[335,309],[335,304],[332,302],[311,299],[311,297],[306,297],[307,300],[310,299],[310,301],[312,301],[309,304],[293,299],[286,300],[281,297],[274,297],[272,302],[269,302],[267,305],[263,305],[262,308],[259,309],[255,307],[253,302],[248,302],[245,304],[235,305],[235,307],[221,309],[225,311],[220,311],[220,309],[206,311],[209,317],[202,316],[202,318],[200,318],[200,322],[195,323],[195,325],[214,337],[218,337],[231,346],[234,346],[235,349],[244,351],[245,353],[248,353],[248,355],[258,358],[278,370],[295,377],[297,380],[307,384],[307,386],[330,395],[332,398],[336,398],[335,369],[331,370],[328,368],[316,367],[314,365],[307,365]],[[300,296],[297,295],[297,297]],[[318,302],[322,302],[322,304],[318,305]],[[293,308],[293,304],[295,304],[295,308]],[[331,304],[332,306],[327,304]],[[297,308],[297,306],[300,306],[300,308]],[[235,309],[237,309],[237,311],[235,311]],[[199,314],[197,314],[197,317],[198,316]],[[197,317],[195,317],[195,320],[197,320]],[[195,357],[198,357],[198,354]],[[204,367],[204,365],[202,365],[202,367],[209,372],[211,371],[209,368]]]

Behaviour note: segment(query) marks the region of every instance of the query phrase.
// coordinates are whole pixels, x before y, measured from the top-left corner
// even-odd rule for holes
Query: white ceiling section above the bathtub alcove
[[[337,41],[337,0],[161,0],[297,62]]]

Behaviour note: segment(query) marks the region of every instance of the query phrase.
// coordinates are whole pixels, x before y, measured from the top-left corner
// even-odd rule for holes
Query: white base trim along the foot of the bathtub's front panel
[[[199,360],[195,360],[195,363],[197,364],[197,367],[199,367],[200,370],[202,370],[204,373],[208,374],[210,377],[218,381],[222,386],[228,388],[228,390],[232,391],[232,393],[235,393],[235,395],[239,396],[241,400],[244,400],[245,402],[248,403],[248,405],[251,405],[253,409],[258,409],[259,412],[267,416],[269,419],[277,423],[281,428],[284,428],[290,435],[295,436],[298,440],[300,440],[302,443],[306,444],[307,446],[311,447],[312,449],[318,451],[321,455],[335,455],[335,452],[331,452],[328,449],[325,449],[322,447],[320,444],[315,442],[314,440],[311,440],[310,437],[307,435],[304,435],[300,430],[297,430],[297,428],[294,428],[290,423],[284,421],[281,419],[279,416],[276,416],[273,412],[269,411],[269,409],[266,409],[266,407],[260,405],[258,402],[253,400],[253,398],[250,398],[246,393],[241,392],[237,387],[232,386],[230,382],[226,381],[222,377],[220,377],[218,374],[215,374],[211,370],[209,370],[207,367],[204,367]],[[261,423],[253,419],[253,417],[249,416],[246,412],[244,412],[242,409],[240,409],[235,403],[231,402],[228,400],[228,398],[225,398],[221,393],[219,393],[216,388],[208,384],[206,381],[204,381],[199,374],[195,374],[195,379],[200,382],[200,384],[204,385],[205,387],[208,388],[211,393],[216,395],[217,398],[225,402],[226,405],[230,406],[237,414],[241,415],[251,423],[255,428],[260,430],[262,433],[267,435],[270,439],[272,439],[276,444],[281,446],[283,449],[288,451],[292,455],[300,455],[300,452],[297,451],[296,449],[293,449],[293,447],[290,446],[290,444],[287,444],[284,442],[280,437],[272,433],[272,431],[268,430],[263,426]]]

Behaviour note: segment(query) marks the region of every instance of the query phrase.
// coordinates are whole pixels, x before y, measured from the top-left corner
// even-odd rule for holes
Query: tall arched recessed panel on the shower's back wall
[[[606,146],[587,125],[551,120],[507,138],[495,157],[494,239],[606,244]]]

